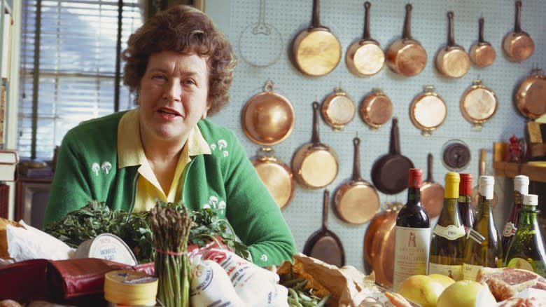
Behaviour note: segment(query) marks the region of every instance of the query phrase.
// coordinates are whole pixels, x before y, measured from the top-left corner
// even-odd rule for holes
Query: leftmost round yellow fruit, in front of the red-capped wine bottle
[[[411,275],[400,284],[398,294],[423,307],[434,307],[444,286],[427,275]]]

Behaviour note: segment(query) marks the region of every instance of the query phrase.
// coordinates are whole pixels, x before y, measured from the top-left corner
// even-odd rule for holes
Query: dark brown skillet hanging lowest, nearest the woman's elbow
[[[340,268],[345,265],[345,252],[339,237],[327,227],[329,209],[330,192],[328,189],[325,189],[322,207],[322,227],[307,239],[303,247],[303,253]]]

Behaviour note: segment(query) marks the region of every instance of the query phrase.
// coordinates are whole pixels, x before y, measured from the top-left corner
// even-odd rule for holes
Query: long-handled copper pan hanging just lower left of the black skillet
[[[353,177],[339,186],[334,194],[334,205],[339,217],[350,224],[365,224],[379,210],[379,194],[370,182],[360,176],[360,139],[353,139]]]

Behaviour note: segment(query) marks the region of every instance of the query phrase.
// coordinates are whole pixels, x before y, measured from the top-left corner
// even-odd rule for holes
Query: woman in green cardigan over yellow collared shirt
[[[88,200],[132,212],[183,201],[221,209],[255,264],[291,259],[290,229],[237,137],[205,119],[229,98],[235,57],[225,36],[201,11],[174,6],[127,45],[123,81],[138,107],[66,133],[45,224]]]

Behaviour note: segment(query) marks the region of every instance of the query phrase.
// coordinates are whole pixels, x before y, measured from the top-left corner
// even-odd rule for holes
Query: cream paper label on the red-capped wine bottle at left
[[[430,228],[395,226],[393,289],[411,275],[426,275]]]

